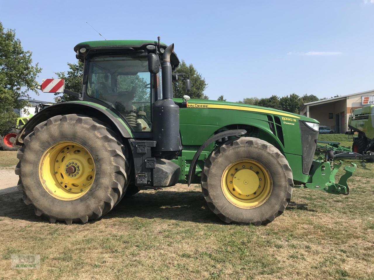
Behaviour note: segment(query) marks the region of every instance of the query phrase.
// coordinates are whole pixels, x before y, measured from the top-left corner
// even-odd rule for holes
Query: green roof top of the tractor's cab
[[[133,47],[140,48],[144,45],[157,45],[157,41],[147,41],[147,40],[106,40],[106,41],[86,41],[77,44],[74,50],[77,51],[79,47],[89,46],[90,48],[110,48],[110,47]],[[160,42],[160,46],[167,47],[165,43]]]

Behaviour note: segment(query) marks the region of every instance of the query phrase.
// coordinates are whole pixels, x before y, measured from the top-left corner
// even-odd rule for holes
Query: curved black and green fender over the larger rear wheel
[[[28,122],[26,122],[24,127],[22,127],[13,145],[22,145],[24,138],[28,134],[30,134],[34,130],[34,127],[36,127],[41,122],[44,122],[47,119],[52,118],[53,116],[68,114],[81,114],[98,118],[101,121],[117,128],[117,130],[123,137],[134,137],[128,124],[126,124],[126,122],[123,121],[123,119],[110,106],[105,107],[93,102],[71,101],[48,106],[47,108],[34,115],[31,119],[28,120]]]

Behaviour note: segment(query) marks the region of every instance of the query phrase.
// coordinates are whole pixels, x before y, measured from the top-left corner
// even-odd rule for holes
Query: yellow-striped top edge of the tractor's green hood
[[[175,101],[177,101],[177,99],[175,99]],[[319,123],[319,121],[317,121],[316,119],[308,118],[306,116],[298,115],[295,113],[290,113],[290,112],[281,111],[281,110],[277,110],[273,108],[267,108],[267,107],[261,107],[261,106],[255,106],[255,105],[235,103],[235,102],[224,102],[224,101],[204,100],[204,99],[190,99],[188,100],[188,108],[215,108],[215,109],[240,110],[240,111],[248,111],[248,112],[265,113],[265,114],[270,114],[270,115],[279,115],[279,116],[283,116],[286,118]]]

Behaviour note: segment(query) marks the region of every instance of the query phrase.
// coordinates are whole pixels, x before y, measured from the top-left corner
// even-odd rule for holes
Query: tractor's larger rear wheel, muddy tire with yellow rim
[[[66,159],[59,158],[69,147],[68,164],[73,166],[74,159],[82,165],[77,177],[65,172]],[[25,137],[17,157],[15,173],[19,175],[18,189],[24,194],[24,202],[34,207],[37,216],[44,215],[52,223],[87,223],[100,218],[119,202],[129,182],[131,165],[120,137],[103,122],[88,116],[58,115],[40,123]],[[75,165],[75,171],[79,165]],[[60,172],[62,177],[57,177]],[[59,180],[64,180],[61,186]]]

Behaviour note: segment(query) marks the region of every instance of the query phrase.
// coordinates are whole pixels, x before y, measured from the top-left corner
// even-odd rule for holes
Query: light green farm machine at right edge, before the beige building
[[[351,112],[348,120],[350,133],[358,133],[353,138],[352,151],[361,155],[374,155],[374,105],[364,106]],[[374,157],[366,159],[374,162]]]

